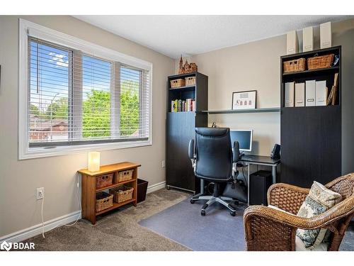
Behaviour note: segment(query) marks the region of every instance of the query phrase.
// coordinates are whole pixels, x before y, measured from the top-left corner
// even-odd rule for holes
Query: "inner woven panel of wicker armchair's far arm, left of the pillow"
[[[309,189],[291,184],[273,184],[268,189],[268,204],[296,215],[307,194],[309,194]]]

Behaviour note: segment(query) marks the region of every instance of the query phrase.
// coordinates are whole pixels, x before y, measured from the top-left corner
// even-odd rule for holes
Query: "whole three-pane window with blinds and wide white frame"
[[[28,21],[20,28],[20,159],[152,144],[151,63]]]

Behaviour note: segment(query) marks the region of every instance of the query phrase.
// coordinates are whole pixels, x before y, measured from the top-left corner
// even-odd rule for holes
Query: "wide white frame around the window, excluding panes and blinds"
[[[89,55],[97,55],[106,60],[114,60],[124,65],[137,67],[149,72],[149,136],[147,140],[132,140],[117,143],[95,143],[84,145],[57,146],[55,148],[29,148],[28,145],[28,35],[51,43],[80,50]],[[115,50],[54,31],[36,23],[19,18],[18,52],[18,159],[83,153],[90,150],[115,150],[152,145],[152,63],[140,60]]]

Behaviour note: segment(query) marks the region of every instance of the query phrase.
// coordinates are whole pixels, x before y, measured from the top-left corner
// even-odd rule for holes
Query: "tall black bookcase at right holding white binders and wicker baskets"
[[[339,62],[326,69],[283,72],[283,62],[301,57],[333,53]],[[311,187],[314,181],[326,184],[341,175],[341,46],[280,57],[280,182]],[[285,83],[326,80],[331,92],[338,73],[335,105],[285,107]],[[305,88],[306,92],[306,88]]]

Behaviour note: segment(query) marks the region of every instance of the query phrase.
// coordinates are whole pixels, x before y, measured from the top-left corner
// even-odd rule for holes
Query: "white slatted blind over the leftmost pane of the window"
[[[66,141],[72,52],[40,40],[28,45],[30,143]]]

